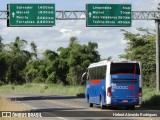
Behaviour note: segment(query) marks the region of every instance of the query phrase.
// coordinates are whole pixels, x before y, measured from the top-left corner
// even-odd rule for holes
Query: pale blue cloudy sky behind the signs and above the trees
[[[0,0],[0,10],[6,10],[10,3],[55,3],[56,10],[86,10],[87,3],[131,4],[132,11],[156,11],[160,0]],[[97,42],[101,58],[112,56],[113,60],[120,60],[118,56],[124,54],[127,46],[121,29],[135,33],[138,27],[156,28],[155,21],[147,20],[133,20],[131,27],[86,27],[86,20],[56,20],[53,27],[7,27],[6,23],[0,20],[4,43],[13,42],[19,36],[28,43],[34,41],[42,53],[46,49],[57,51],[59,47],[67,47],[70,37],[75,36],[80,44]]]

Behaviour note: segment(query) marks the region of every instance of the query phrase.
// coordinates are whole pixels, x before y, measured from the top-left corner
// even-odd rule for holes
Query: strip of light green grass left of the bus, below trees
[[[62,86],[62,85],[46,85],[40,83],[28,83],[24,85],[3,85],[0,86],[0,93],[46,93],[46,94],[62,94],[77,95],[84,93],[85,86]]]

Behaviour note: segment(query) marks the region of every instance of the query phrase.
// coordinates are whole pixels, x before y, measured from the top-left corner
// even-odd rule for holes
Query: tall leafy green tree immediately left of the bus
[[[96,51],[97,43],[89,42],[88,45],[80,45],[76,37],[71,37],[68,46],[68,74],[67,81],[70,85],[81,83],[81,75],[92,62],[100,60],[100,55]]]

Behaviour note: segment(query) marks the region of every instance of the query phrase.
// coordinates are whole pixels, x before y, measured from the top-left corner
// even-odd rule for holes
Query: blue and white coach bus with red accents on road
[[[82,75],[86,79],[85,99],[90,107],[99,104],[134,110],[142,102],[141,64],[138,61],[100,61],[90,64]]]

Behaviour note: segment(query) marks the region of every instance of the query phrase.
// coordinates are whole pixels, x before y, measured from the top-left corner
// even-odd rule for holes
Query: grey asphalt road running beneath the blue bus
[[[99,105],[88,107],[84,98],[76,96],[45,94],[5,94],[5,96],[27,106],[30,109],[28,113],[42,116],[32,120],[160,120],[159,117],[148,117],[160,114],[160,110],[146,110],[141,107],[136,107],[135,110],[124,110],[124,108],[101,110]],[[137,117],[140,115],[143,117]]]

